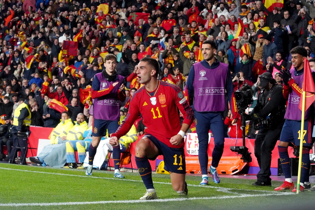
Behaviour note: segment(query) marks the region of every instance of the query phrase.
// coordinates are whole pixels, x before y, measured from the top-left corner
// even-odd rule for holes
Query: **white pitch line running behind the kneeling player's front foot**
[[[129,179],[117,179],[117,178],[109,178],[109,177],[97,177],[97,176],[87,176],[87,175],[75,175],[75,174],[62,174],[62,173],[52,173],[52,172],[43,172],[43,171],[31,171],[31,170],[22,170],[22,169],[10,169],[10,168],[3,168],[0,169],[4,170],[12,170],[12,171],[22,171],[22,172],[33,172],[39,174],[54,174],[54,175],[63,175],[63,176],[75,176],[75,177],[83,177],[83,178],[94,178],[94,179],[106,179],[106,180],[119,180],[119,181],[132,181],[132,182],[142,182],[142,180],[129,180]],[[172,185],[170,182],[153,182],[155,184],[163,184],[163,185]],[[211,185],[192,185],[187,184],[187,186],[191,187],[206,187],[206,188],[214,188],[214,189],[221,189],[221,190],[243,190],[243,191],[255,191],[255,192],[266,192],[266,193],[273,193],[277,194],[277,191],[267,191],[267,190],[249,190],[249,189],[236,189],[236,188],[227,188],[227,187],[216,187]]]

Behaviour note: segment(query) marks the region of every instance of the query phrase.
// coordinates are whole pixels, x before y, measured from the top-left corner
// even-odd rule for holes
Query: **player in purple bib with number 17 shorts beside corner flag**
[[[302,85],[304,78],[304,58],[307,57],[307,51],[304,47],[294,47],[290,53],[292,54],[293,69],[281,70],[279,76],[282,78],[283,96],[288,99],[287,110],[284,115],[284,126],[281,131],[280,141],[278,145],[279,157],[284,173],[284,183],[275,188],[275,191],[292,190],[296,192],[294,187],[290,161],[288,154],[288,146],[300,147],[301,118],[302,111],[299,109],[300,97],[302,97]],[[312,70],[312,77],[315,81],[315,72]],[[310,149],[312,148],[312,131],[314,122],[314,107],[311,105],[305,111],[304,131],[303,131],[303,150],[302,150],[302,168],[300,191],[304,191],[304,182],[310,169]]]

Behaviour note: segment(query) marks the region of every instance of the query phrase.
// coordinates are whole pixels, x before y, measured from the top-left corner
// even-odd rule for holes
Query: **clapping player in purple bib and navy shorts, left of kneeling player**
[[[103,71],[94,76],[91,97],[93,99],[90,114],[93,115],[92,142],[89,147],[89,166],[86,175],[92,175],[93,160],[97,146],[102,136],[111,135],[119,127],[119,101],[125,101],[124,77],[117,74],[117,57],[113,54],[105,56]],[[91,111],[93,113],[91,113]],[[114,177],[125,178],[119,172],[120,146],[113,146],[113,160],[115,164]]]

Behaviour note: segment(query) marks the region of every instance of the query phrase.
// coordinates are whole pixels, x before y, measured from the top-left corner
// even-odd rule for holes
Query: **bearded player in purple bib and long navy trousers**
[[[225,96],[227,93],[233,114],[232,124],[238,120],[238,108],[235,103],[233,83],[227,64],[215,59],[217,51],[214,41],[206,40],[202,44],[203,60],[192,64],[188,79],[187,91],[189,102],[194,110],[195,124],[199,141],[199,164],[202,173],[200,185],[208,185],[208,140],[211,129],[215,141],[212,151],[212,163],[209,171],[212,180],[220,183],[216,168],[224,148]]]

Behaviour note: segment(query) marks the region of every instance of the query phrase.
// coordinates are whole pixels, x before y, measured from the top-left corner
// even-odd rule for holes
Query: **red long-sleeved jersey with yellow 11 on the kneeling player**
[[[155,136],[169,147],[184,147],[184,141],[180,145],[169,142],[181,128],[177,108],[183,113],[183,123],[191,125],[194,114],[179,87],[159,80],[157,89],[150,93],[143,86],[132,96],[127,117],[112,136],[119,139],[125,135],[141,113],[146,134]]]

